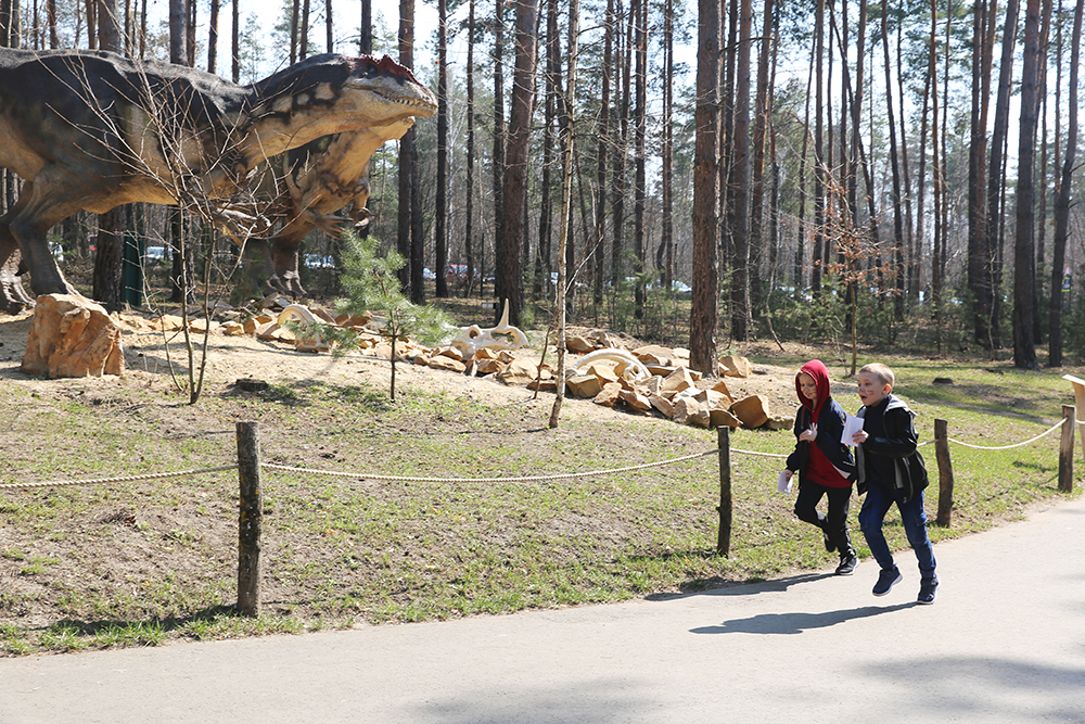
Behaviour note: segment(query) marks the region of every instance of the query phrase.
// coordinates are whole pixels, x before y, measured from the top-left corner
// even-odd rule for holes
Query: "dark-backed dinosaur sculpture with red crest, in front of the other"
[[[0,216],[0,308],[73,290],[46,232],[132,202],[256,226],[239,200],[261,161],[317,138],[432,116],[436,101],[385,56],[316,55],[252,86],[108,52],[0,49],[0,167],[26,182]],[[22,257],[22,263],[20,262]]]

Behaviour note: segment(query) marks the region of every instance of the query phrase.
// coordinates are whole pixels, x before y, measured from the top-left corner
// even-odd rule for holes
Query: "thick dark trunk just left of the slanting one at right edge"
[[[1027,0],[1021,69],[1021,131],[1018,137],[1017,228],[1013,240],[1013,366],[1036,369],[1035,206],[1036,114],[1039,80],[1039,0]]]

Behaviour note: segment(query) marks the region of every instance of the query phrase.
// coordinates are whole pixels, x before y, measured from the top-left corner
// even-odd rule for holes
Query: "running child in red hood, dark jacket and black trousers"
[[[829,371],[818,359],[803,365],[795,376],[795,392],[802,403],[795,415],[799,442],[784,471],[789,480],[799,473],[795,516],[821,529],[826,550],[840,551],[837,575],[851,575],[859,559],[847,532],[855,460],[851,448],[840,442],[847,416],[829,394]],[[822,496],[829,499],[828,515],[817,509]]]

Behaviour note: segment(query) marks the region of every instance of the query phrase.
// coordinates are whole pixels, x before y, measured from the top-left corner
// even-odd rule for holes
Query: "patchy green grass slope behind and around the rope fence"
[[[804,360],[754,361],[797,368]],[[1059,373],[888,361],[897,372],[896,392],[917,411],[921,441],[932,439],[942,418],[961,441],[1019,442],[1058,421],[1072,398]],[[838,399],[854,411],[854,385],[841,365],[830,369]],[[934,377],[954,384],[934,385]],[[486,406],[401,390],[391,404],[381,390],[319,382],[206,395],[195,407],[139,390],[114,392],[108,404],[94,404],[79,399],[85,395],[33,397],[0,388],[0,404],[20,410],[23,441],[8,452],[3,482],[229,463],[234,421],[251,419],[260,424],[265,462],[357,475],[265,470],[257,619],[231,608],[235,473],[0,493],[0,576],[17,583],[0,593],[3,655],[615,601],[834,562],[816,531],[794,519],[794,498],[776,492],[782,460],[738,452],[789,453],[790,431],[731,434],[733,526],[724,557],[716,552],[715,456],[622,474],[467,480],[672,459],[714,448],[714,431],[624,415],[566,419],[549,430],[549,399]],[[46,414],[23,412],[28,406]],[[1006,452],[954,445],[954,520],[950,528],[932,525],[935,544],[1061,499],[1057,437]],[[936,479],[933,447],[923,453]],[[373,480],[367,472],[456,482]],[[928,494],[932,518],[936,488]],[[857,508],[852,528],[860,543]],[[892,545],[906,547],[892,513],[886,532]],[[861,546],[860,554],[867,555]]]

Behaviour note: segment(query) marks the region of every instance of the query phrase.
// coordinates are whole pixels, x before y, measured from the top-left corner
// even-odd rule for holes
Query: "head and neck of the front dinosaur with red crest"
[[[432,116],[437,109],[430,89],[387,55],[380,60],[315,55],[250,89],[252,119],[297,138],[386,125],[409,127],[416,116]]]

